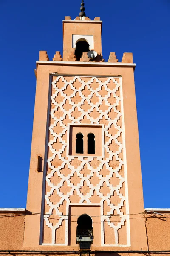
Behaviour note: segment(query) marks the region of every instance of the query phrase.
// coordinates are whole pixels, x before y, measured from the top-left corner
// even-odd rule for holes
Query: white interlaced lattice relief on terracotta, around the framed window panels
[[[101,246],[129,245],[122,99],[121,77],[53,77],[44,245],[68,245],[71,204],[100,206]],[[68,124],[102,125],[104,154],[100,157],[68,155]]]

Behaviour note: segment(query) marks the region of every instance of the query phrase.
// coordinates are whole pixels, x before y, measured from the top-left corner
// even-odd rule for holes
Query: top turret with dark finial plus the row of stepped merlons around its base
[[[115,52],[110,52],[108,61],[102,56],[102,21],[100,17],[91,20],[86,17],[84,1],[82,0],[79,16],[74,20],[65,16],[63,20],[63,55],[57,51],[53,61],[80,62],[109,62],[119,63]],[[91,50],[95,51],[95,58],[91,58]],[[39,61],[49,61],[46,51],[40,51]],[[122,63],[133,63],[131,52],[124,52]],[[36,74],[37,76],[37,74]]]

